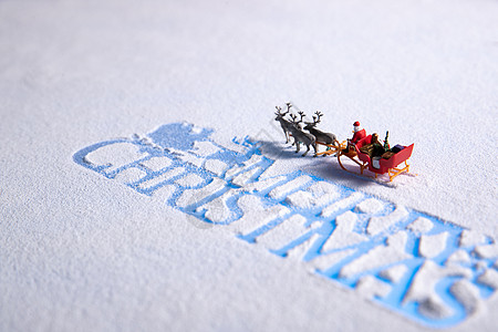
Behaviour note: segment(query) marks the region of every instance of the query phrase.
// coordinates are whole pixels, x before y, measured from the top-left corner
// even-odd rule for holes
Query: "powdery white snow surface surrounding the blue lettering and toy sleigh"
[[[415,143],[381,186],[303,169],[498,238],[498,1],[0,1],[0,331],[424,330],[72,160],[172,122],[283,143],[292,101]],[[498,325],[498,299],[454,331]]]

